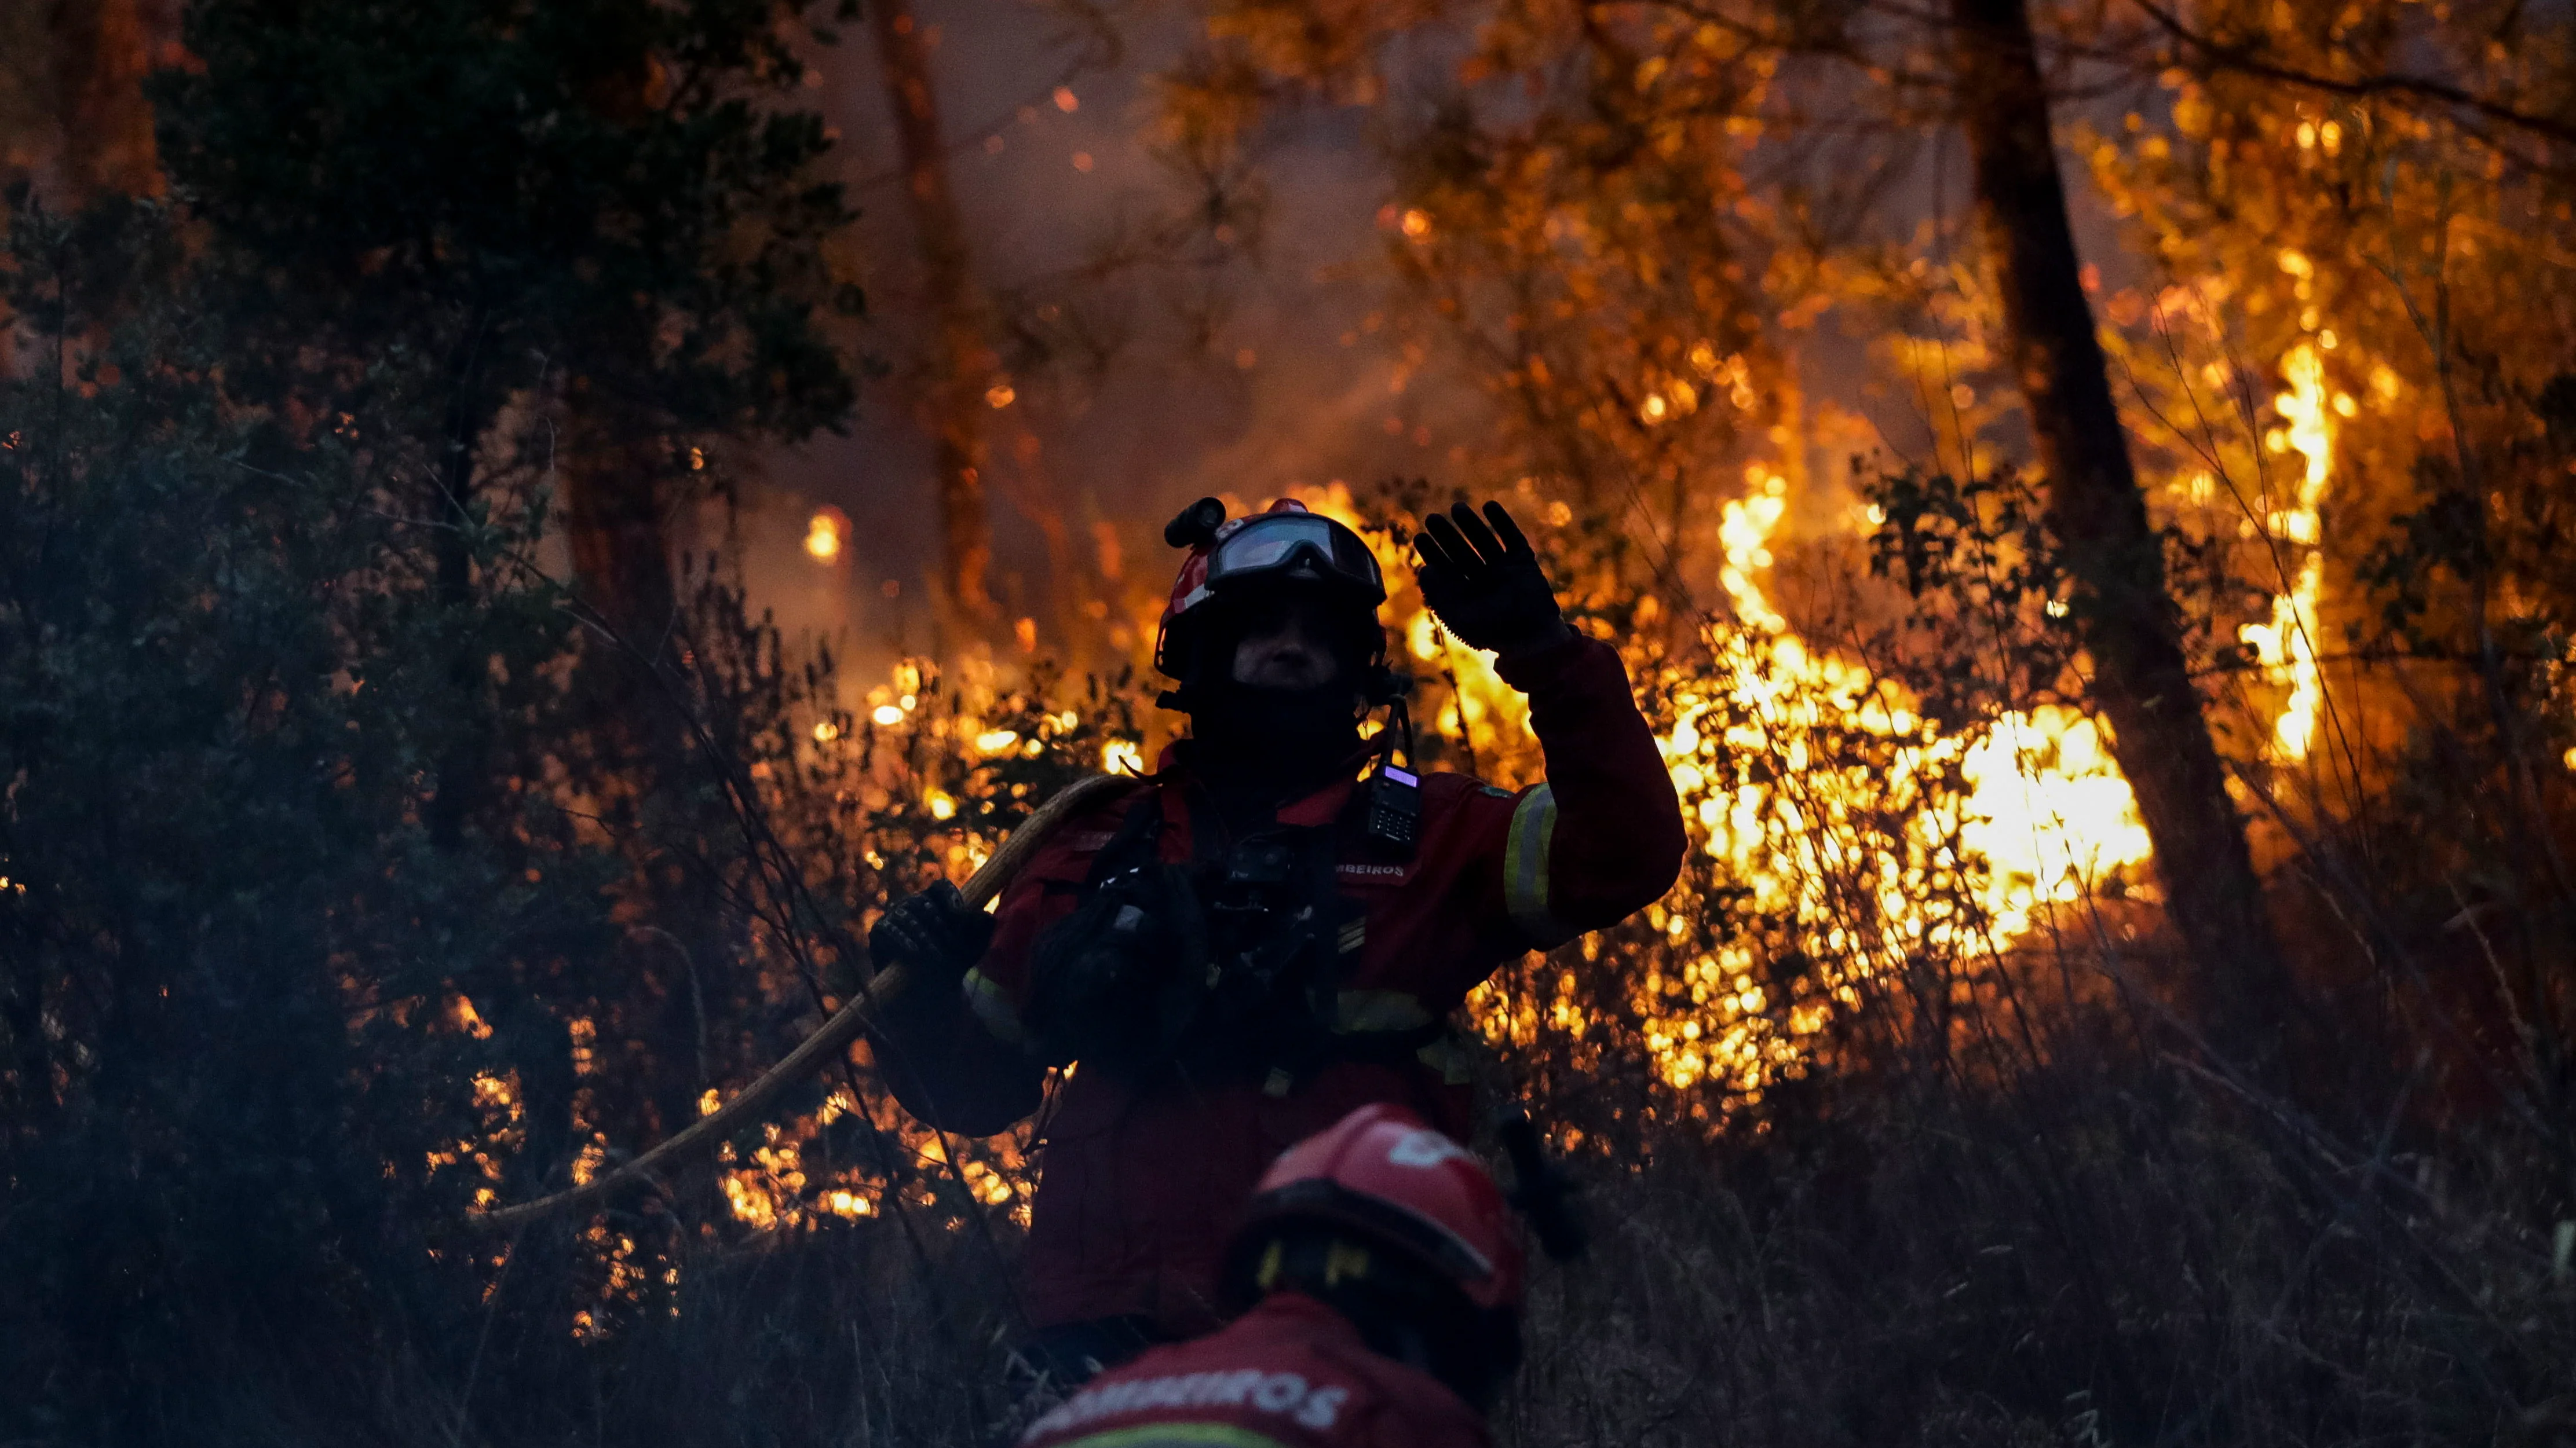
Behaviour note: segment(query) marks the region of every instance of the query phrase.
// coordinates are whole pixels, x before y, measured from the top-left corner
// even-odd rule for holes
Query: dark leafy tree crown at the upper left
[[[806,435],[850,410],[801,5],[191,5],[155,82],[173,191],[234,247],[270,348],[250,394],[348,397],[410,350],[482,425],[556,374],[667,430]],[[252,368],[268,368],[263,376]],[[319,371],[322,376],[312,376]],[[474,430],[456,430],[471,441]]]

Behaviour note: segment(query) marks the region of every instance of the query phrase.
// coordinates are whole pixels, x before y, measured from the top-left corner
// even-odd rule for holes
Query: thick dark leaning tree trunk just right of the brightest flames
[[[2244,819],[2228,799],[2182,629],[2164,587],[2076,268],[2027,0],[1950,0],[1960,121],[1976,209],[2004,296],[2012,366],[2048,477],[2048,526],[2066,557],[2112,757],[2138,796],[2156,873],[2197,982],[2202,1028],[2267,1049],[2285,969]]]

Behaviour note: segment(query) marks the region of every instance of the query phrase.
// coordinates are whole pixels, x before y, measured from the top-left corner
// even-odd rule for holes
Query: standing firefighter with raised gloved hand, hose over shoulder
[[[1164,538],[1190,557],[1157,667],[1190,737],[994,915],[943,884],[868,935],[914,974],[876,1056],[922,1121],[1005,1131],[1079,1064],[1023,1257],[1028,1353],[1059,1381],[1216,1322],[1224,1224],[1291,1141],[1381,1100],[1466,1136],[1466,992],[1646,907],[1685,850],[1618,654],[1566,626],[1502,505],[1435,513],[1414,546],[1432,613],[1530,698],[1548,781],[1517,794],[1396,765],[1404,680],[1358,533],[1200,500]]]

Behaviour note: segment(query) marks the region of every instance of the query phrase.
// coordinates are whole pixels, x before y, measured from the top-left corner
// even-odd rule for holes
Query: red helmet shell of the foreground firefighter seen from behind
[[[1244,1232],[1291,1219],[1406,1252],[1481,1309],[1520,1309],[1528,1262],[1502,1188],[1473,1152],[1401,1105],[1363,1105],[1280,1152],[1252,1193]]]

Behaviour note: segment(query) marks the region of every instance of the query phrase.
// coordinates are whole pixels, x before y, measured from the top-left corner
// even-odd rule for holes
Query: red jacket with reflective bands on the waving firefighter
[[[1548,783],[1512,794],[1430,773],[1414,858],[1337,868],[1340,891],[1365,907],[1360,935],[1342,938],[1337,1031],[1445,1020],[1504,961],[1613,925],[1680,873],[1680,804],[1618,652],[1574,639],[1507,660],[1502,678],[1530,696]],[[1136,788],[1159,794],[1159,858],[1190,861],[1188,791],[1203,786],[1164,770]],[[1298,799],[1278,822],[1334,824],[1352,788]],[[1015,1049],[1030,946],[1074,910],[1131,804],[1113,799],[1064,824],[1002,894],[992,948],[966,976],[971,1013],[948,1002],[935,1018],[889,1023],[881,1062],[914,1116],[981,1136],[1036,1110],[1041,1072]],[[1077,1067],[1043,1123],[1023,1260],[1030,1324],[1149,1317],[1172,1337],[1208,1329],[1226,1234],[1273,1157],[1373,1100],[1468,1136],[1463,1085],[1463,1054],[1448,1041],[1419,1056],[1334,1059],[1293,1085],[1247,1072],[1131,1087]]]

